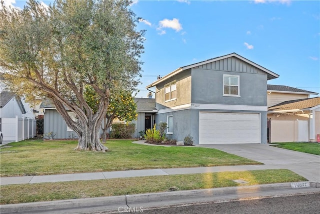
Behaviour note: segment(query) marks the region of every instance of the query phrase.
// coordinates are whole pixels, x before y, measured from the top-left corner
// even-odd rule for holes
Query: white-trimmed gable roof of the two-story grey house
[[[193,67],[197,67],[197,66],[200,66],[200,65],[204,65],[204,64],[207,64],[207,63],[211,63],[211,62],[215,62],[215,61],[218,61],[218,60],[221,60],[221,59],[225,59],[225,58],[228,58],[228,57],[235,57],[239,60],[242,60],[258,69],[261,69],[262,71],[264,71],[266,74],[267,74],[267,79],[268,80],[271,80],[271,79],[275,79],[275,78],[278,78],[279,75],[277,75],[276,73],[244,58],[244,57],[241,57],[240,55],[236,54],[236,53],[232,53],[232,54],[227,54],[227,55],[224,55],[224,56],[220,56],[220,57],[215,57],[215,58],[212,58],[212,59],[209,59],[209,60],[205,60],[205,61],[202,61],[202,62],[198,62],[198,63],[194,63],[194,64],[191,64],[191,65],[187,65],[187,66],[183,66],[183,67],[180,67],[180,68],[177,68],[175,69],[174,71],[172,71],[171,73],[165,75],[164,77],[158,79],[157,81],[151,83],[150,85],[146,86],[146,88],[151,88],[155,85],[157,85],[158,83],[160,82],[163,82],[167,79],[169,79],[170,77],[172,76],[175,76],[176,74],[184,71],[184,70],[187,70],[187,69],[190,69],[190,68],[193,68]]]

